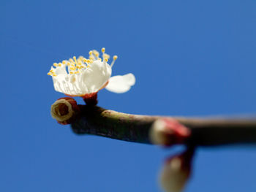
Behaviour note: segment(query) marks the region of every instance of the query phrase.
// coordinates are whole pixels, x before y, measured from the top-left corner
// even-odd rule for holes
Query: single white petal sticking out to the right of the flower
[[[132,73],[110,77],[106,89],[114,93],[125,93],[135,85],[135,76]]]

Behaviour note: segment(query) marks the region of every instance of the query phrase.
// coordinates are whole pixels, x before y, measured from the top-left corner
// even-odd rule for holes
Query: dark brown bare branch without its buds
[[[151,144],[148,132],[159,118],[178,120],[191,130],[187,145],[213,146],[256,143],[256,119],[180,118],[129,115],[97,106],[80,105],[80,118],[72,123],[76,134],[92,134],[128,142]]]

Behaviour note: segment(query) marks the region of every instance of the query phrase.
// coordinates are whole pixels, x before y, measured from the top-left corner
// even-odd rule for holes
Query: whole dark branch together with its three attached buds
[[[75,99],[61,98],[52,105],[51,115],[61,124],[71,123],[75,134],[162,146],[187,145],[184,153],[167,158],[162,167],[160,182],[165,191],[184,188],[197,146],[256,143],[256,119],[129,115],[105,110],[95,103],[87,100],[86,105],[78,105]]]

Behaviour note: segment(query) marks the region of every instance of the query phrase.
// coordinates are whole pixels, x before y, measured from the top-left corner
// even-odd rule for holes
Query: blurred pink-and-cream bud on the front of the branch
[[[153,144],[170,146],[184,143],[191,135],[189,128],[178,120],[160,118],[155,120],[149,131],[149,139]]]

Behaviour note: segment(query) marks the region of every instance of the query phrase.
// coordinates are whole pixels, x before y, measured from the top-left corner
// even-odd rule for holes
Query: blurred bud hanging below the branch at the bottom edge
[[[189,180],[193,154],[194,149],[189,149],[165,161],[159,181],[166,192],[183,191]]]

